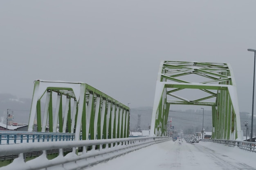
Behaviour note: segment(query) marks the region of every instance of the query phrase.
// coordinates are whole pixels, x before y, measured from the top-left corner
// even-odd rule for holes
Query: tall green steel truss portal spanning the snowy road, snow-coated
[[[200,82],[196,82],[198,79]],[[195,95],[189,99],[182,96],[192,93]],[[161,62],[155,89],[151,136],[166,135],[171,104],[211,106],[212,138],[243,139],[236,84],[229,64]]]

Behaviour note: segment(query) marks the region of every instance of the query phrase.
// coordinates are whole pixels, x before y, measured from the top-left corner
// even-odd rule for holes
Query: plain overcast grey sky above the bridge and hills
[[[34,80],[85,82],[132,108],[153,106],[161,60],[231,64],[251,113],[254,0],[2,0],[0,93]]]

